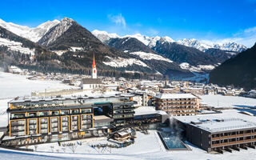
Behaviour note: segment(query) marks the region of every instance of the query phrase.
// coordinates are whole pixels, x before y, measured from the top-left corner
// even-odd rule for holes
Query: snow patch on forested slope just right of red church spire
[[[109,56],[106,56],[106,58],[110,59],[110,62],[103,62],[107,66],[113,66],[113,67],[126,67],[126,66],[132,66],[132,65],[138,65],[138,66],[144,66],[148,67],[144,62],[135,59],[135,58],[110,58]]]

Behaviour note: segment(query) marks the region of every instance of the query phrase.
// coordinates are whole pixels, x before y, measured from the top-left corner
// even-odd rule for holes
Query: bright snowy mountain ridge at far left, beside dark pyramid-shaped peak
[[[10,30],[11,32],[17,34],[18,36],[21,36],[22,38],[30,39],[30,41],[32,42],[38,42],[38,40],[42,38],[42,36],[46,34],[46,32],[48,32],[52,27],[58,25],[58,23],[58,20],[47,21],[35,28],[30,28],[28,26],[20,26],[12,22],[5,22],[0,19],[0,26],[5,28],[6,30]]]

